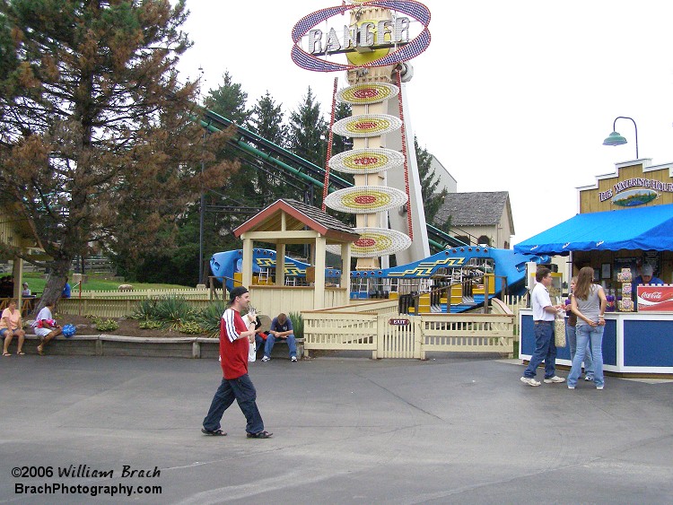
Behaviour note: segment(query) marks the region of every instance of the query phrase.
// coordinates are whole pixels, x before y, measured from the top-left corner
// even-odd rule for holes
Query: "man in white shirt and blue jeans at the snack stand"
[[[548,268],[538,268],[535,284],[530,292],[530,304],[533,308],[533,324],[535,325],[535,351],[530,357],[529,366],[523,372],[521,382],[529,386],[539,386],[535,379],[538,365],[545,361],[545,382],[554,384],[565,382],[556,376],[556,344],[554,342],[554,319],[556,311],[564,309],[562,305],[552,305],[548,288],[552,285],[552,273]]]

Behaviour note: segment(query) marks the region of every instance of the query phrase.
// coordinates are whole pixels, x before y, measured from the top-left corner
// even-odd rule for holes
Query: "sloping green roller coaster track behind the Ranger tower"
[[[203,118],[199,119],[201,126],[212,132],[219,132],[234,123],[227,118],[223,118],[212,110],[204,109]],[[276,168],[284,170],[293,178],[302,179],[304,183],[319,187],[322,189],[325,180],[325,170],[318,165],[304,160],[280,145],[274,144],[267,139],[247,130],[242,126],[236,126],[236,135],[230,141],[234,147],[247,152],[259,161],[265,164],[271,164]],[[340,178],[337,175],[330,174],[328,192],[343,189],[345,187],[353,187],[353,183]],[[448,233],[435,228],[432,224],[427,224],[428,241],[430,246],[441,250],[446,247],[460,247],[465,246],[459,239],[451,237]]]

